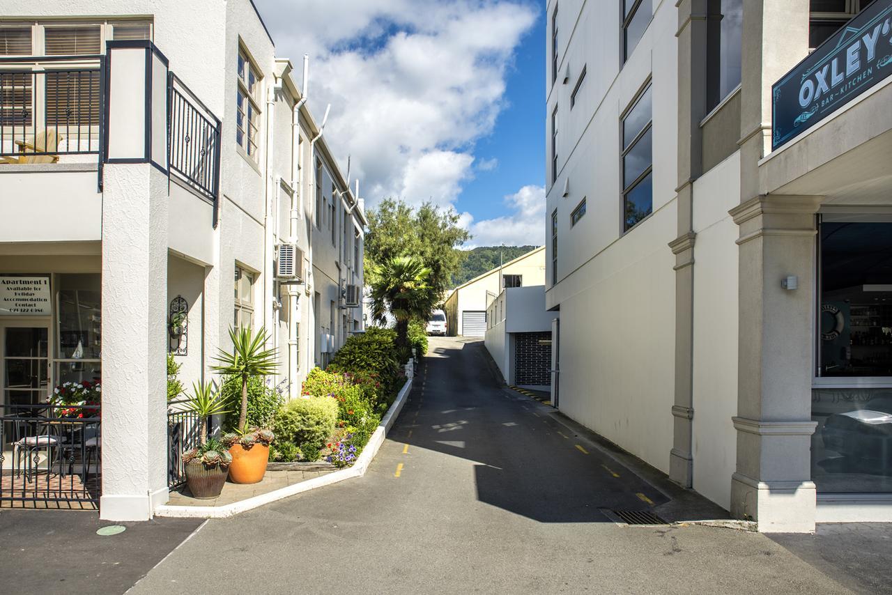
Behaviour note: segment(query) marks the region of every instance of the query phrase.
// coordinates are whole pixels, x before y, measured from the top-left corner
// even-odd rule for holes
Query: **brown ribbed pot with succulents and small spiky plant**
[[[226,483],[232,455],[222,442],[208,439],[208,418],[227,413],[226,403],[220,398],[216,384],[193,384],[185,410],[194,413],[200,424],[200,445],[183,455],[186,466],[186,485],[194,498],[217,498]]]

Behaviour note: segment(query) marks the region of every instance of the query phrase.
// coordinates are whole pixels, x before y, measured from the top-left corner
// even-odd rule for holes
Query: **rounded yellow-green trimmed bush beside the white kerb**
[[[277,448],[292,443],[303,453],[305,460],[318,460],[319,450],[335,433],[337,401],[331,397],[293,399],[283,405],[273,421]]]

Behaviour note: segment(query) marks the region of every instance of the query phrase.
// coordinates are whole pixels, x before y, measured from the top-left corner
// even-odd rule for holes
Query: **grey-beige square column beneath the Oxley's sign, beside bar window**
[[[756,196],[739,225],[737,471],[731,515],[762,532],[814,532],[811,481],[816,196]],[[797,288],[781,285],[797,277]]]

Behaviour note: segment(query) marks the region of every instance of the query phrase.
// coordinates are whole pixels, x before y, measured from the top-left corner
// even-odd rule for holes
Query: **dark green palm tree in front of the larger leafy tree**
[[[431,269],[417,256],[384,260],[375,268],[372,283],[372,317],[384,323],[387,310],[396,318],[396,347],[409,348],[409,320],[426,319],[434,305],[428,285]]]

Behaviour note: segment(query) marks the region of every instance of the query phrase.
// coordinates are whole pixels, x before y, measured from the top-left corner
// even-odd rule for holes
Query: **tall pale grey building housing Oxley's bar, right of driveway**
[[[892,3],[548,3],[559,408],[763,531],[892,518]]]

